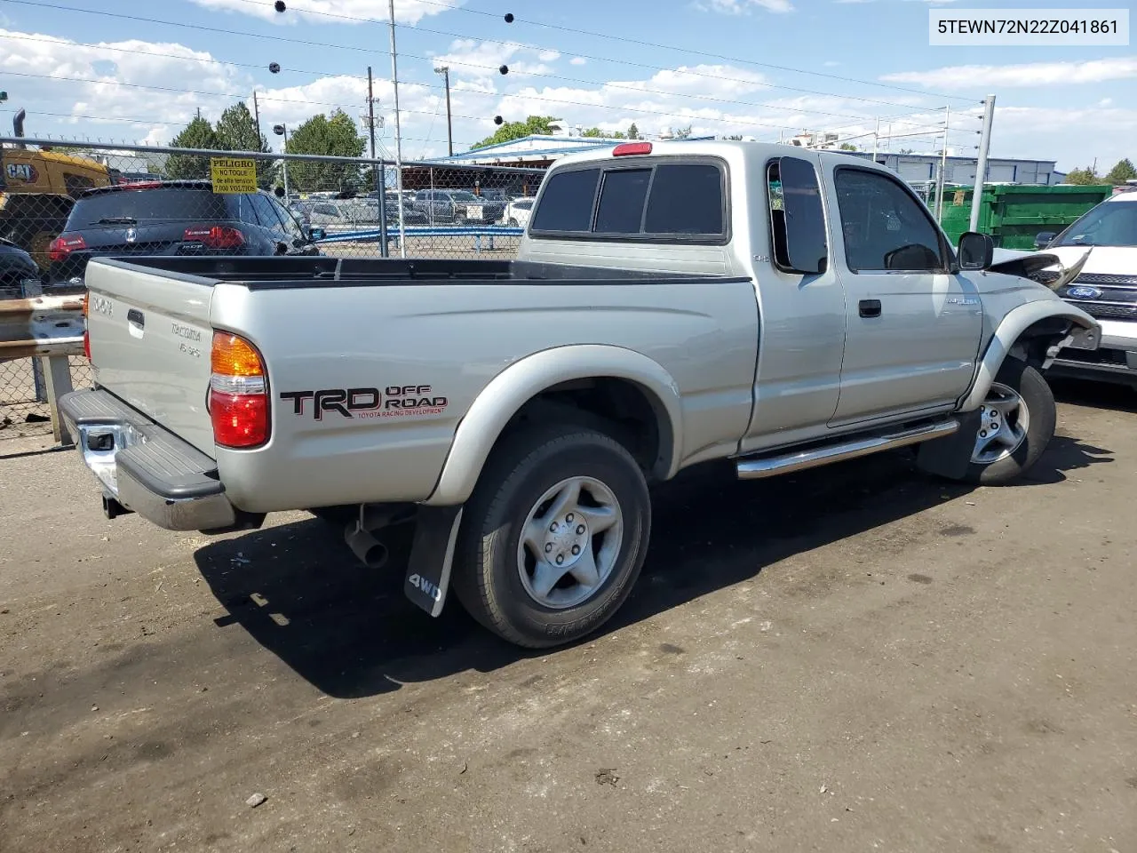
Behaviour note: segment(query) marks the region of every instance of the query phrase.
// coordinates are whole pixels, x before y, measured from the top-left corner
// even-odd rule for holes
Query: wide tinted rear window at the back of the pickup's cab
[[[530,235],[724,245],[727,166],[712,157],[647,157],[566,168],[546,179]]]

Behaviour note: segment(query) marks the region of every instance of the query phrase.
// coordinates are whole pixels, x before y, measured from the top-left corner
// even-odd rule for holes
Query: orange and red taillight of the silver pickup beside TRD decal
[[[214,332],[209,417],[221,447],[258,447],[268,440],[268,384],[260,354],[243,338]]]

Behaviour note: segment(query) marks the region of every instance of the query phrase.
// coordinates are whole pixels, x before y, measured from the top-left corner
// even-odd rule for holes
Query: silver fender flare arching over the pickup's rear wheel
[[[671,446],[661,448],[657,474],[662,479],[673,477],[679,470],[683,424],[675,380],[657,362],[634,350],[599,343],[571,345],[526,356],[490,380],[458,423],[434,491],[423,503],[464,503],[498,437],[522,406],[553,386],[599,376],[636,383],[652,401],[656,417],[666,419],[659,424],[661,434],[670,436]]]

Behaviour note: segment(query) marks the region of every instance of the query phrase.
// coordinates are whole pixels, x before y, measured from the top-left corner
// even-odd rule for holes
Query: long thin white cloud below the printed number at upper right
[[[1137,57],[1111,57],[1073,63],[1024,65],[955,65],[928,72],[886,74],[889,83],[915,83],[931,89],[976,86],[1051,86],[1061,83],[1102,83],[1137,77]]]

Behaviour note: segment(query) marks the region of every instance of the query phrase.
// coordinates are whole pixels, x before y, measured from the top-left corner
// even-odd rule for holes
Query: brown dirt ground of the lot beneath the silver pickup
[[[306,515],[108,522],[5,441],[0,850],[1137,851],[1137,395],[1061,398],[1013,488],[692,471],[547,654]]]

